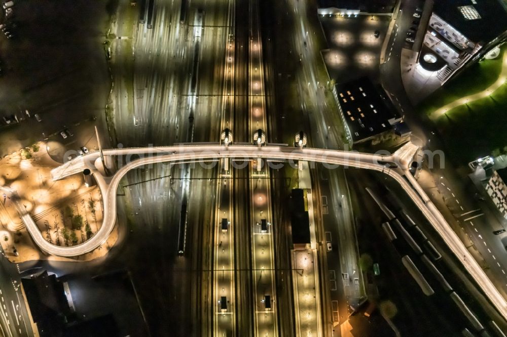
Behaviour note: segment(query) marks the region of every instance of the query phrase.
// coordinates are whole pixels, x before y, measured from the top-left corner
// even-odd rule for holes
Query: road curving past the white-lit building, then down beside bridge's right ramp
[[[392,102],[404,115],[405,121],[411,128],[413,132],[412,140],[423,146],[425,150],[440,151],[446,148],[445,144],[436,133],[432,121],[428,117],[418,114],[417,109],[411,104],[401,77],[401,52],[406,47],[404,37],[413,20],[412,13],[416,6],[417,1],[415,0],[405,1],[402,11],[397,15],[393,33],[387,43],[387,50],[392,49],[392,54],[380,65],[381,81]],[[493,86],[497,84],[495,83]],[[446,186],[441,193],[434,193],[436,192],[435,187],[443,187],[440,185],[441,179],[445,180]],[[477,192],[476,188],[472,186],[468,178],[463,179],[458,174],[456,167],[450,160],[450,156],[444,156],[442,160],[436,161],[430,170],[425,168],[418,180],[462,241],[465,242],[468,238],[472,240],[485,263],[489,266],[485,270],[486,274],[502,296],[507,298],[507,252],[501,243],[501,236],[492,235],[493,230],[502,228],[498,217],[493,214],[496,210],[490,209],[473,197],[473,194]],[[449,191],[450,193],[448,193]],[[447,199],[443,200],[443,196],[446,194]],[[474,218],[472,223],[465,221],[467,217],[461,216],[461,214],[476,209],[480,209],[479,213],[484,214],[484,216]]]

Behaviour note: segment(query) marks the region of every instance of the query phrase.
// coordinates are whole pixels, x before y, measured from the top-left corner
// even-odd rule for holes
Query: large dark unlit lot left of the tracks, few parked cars
[[[46,138],[66,149],[92,149],[94,125],[106,135],[106,6],[104,0],[14,0],[11,14],[0,14],[7,27],[0,32],[0,156]],[[64,139],[64,129],[73,136]]]

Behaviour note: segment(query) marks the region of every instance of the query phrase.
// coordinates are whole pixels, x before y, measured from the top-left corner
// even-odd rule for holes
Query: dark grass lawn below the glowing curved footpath
[[[507,84],[490,97],[458,106],[437,121],[449,153],[459,164],[507,145]]]

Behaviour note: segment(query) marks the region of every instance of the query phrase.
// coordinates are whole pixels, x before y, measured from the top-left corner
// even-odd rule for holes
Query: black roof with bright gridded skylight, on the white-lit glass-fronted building
[[[487,43],[507,31],[507,5],[502,0],[437,0],[437,14],[461,34]]]

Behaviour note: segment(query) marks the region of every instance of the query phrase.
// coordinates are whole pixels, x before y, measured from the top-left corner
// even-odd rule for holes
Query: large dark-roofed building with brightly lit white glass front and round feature
[[[427,1],[413,49],[418,63],[444,83],[507,40],[502,0]]]

